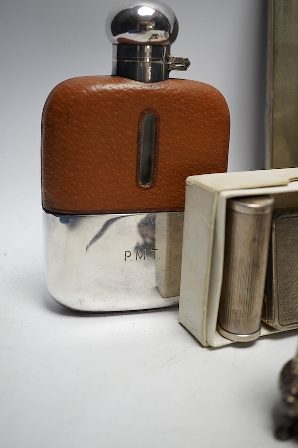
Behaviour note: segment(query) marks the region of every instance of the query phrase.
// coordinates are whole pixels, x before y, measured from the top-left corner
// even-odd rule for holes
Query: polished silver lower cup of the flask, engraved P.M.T
[[[61,305],[102,312],[178,303],[183,212],[43,216],[47,288]]]

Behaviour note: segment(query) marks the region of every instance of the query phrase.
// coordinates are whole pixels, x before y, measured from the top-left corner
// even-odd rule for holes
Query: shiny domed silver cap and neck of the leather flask
[[[187,58],[170,56],[178,21],[161,2],[132,1],[111,10],[106,33],[113,44],[112,75],[146,83],[168,79],[171,70],[187,70]]]

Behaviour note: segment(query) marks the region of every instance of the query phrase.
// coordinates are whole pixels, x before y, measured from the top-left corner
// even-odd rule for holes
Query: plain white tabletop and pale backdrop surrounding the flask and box
[[[116,3],[1,5],[0,447],[296,446],[274,440],[272,410],[297,331],[203,348],[176,307],[83,315],[46,291],[42,107],[63,79],[109,73],[102,22]],[[218,87],[229,105],[229,169],[263,168],[265,2],[168,4],[180,22],[172,54],[191,53],[187,76]],[[194,33],[198,45],[183,50]]]

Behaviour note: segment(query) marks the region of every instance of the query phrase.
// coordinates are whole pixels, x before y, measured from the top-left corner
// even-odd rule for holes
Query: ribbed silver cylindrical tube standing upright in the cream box
[[[227,201],[218,331],[234,341],[260,335],[273,205],[271,196]]]

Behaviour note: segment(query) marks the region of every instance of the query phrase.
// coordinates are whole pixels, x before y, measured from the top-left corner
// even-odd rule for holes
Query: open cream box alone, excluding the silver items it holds
[[[226,201],[258,195],[272,195],[275,209],[298,209],[298,168],[203,174],[186,179],[179,322],[204,346],[232,343],[217,331]],[[262,324],[261,336],[279,331]]]

